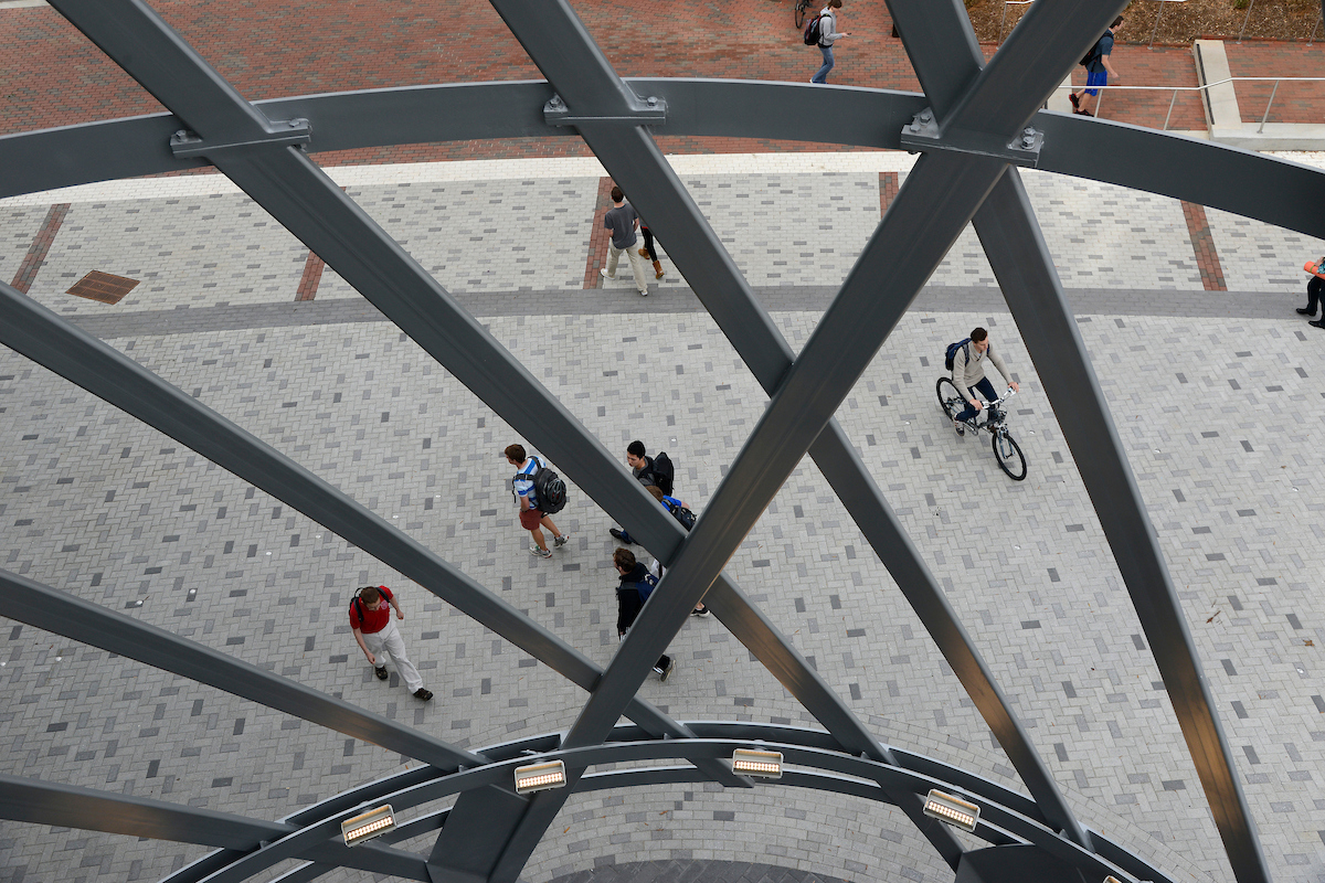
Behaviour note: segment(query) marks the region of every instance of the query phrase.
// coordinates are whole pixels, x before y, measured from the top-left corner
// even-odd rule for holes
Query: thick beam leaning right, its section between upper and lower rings
[[[649,597],[640,627],[631,629],[621,642],[567,735],[568,745],[598,741],[611,729],[621,703],[635,694],[652,661],[713,585],[1002,172],[1003,163],[987,158],[922,156],[916,163],[837,299]]]

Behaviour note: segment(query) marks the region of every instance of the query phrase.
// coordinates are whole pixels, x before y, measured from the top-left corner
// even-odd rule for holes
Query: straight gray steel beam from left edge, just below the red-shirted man
[[[191,678],[329,729],[444,769],[488,759],[241,662],[207,645],[0,569],[5,616],[37,629]]]

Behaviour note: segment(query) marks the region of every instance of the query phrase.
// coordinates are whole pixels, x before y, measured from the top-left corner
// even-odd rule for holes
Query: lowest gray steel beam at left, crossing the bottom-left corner
[[[244,851],[295,830],[290,825],[179,806],[147,797],[107,794],[90,788],[5,774],[0,774],[0,818]],[[420,857],[379,845],[370,843],[350,850],[343,843],[311,843],[295,858],[428,883]]]

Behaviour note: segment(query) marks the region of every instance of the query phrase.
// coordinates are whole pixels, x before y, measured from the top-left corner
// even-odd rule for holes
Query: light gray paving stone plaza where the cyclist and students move
[[[796,349],[880,220],[881,175],[905,181],[912,160],[672,159]],[[651,454],[666,450],[677,496],[702,511],[767,397],[665,257],[668,277],[647,299],[624,273],[583,287],[595,167],[329,171],[603,443],[623,457],[633,438]],[[1271,868],[1277,880],[1325,879],[1325,331],[1293,314],[1305,303],[1301,265],[1325,242],[1210,209],[1228,290],[1207,291],[1178,201],[1023,177]],[[295,304],[307,249],[269,216],[200,175],[5,200],[0,274],[13,277],[62,203],[70,209],[32,298],[333,482],[595,663],[611,661],[613,522],[572,486],[555,516],[571,543],[550,561],[530,556],[500,457],[523,440],[330,269],[315,301]],[[91,270],[140,285],[114,306],[65,294]],[[1022,383],[1011,401],[1030,461],[1022,483],[998,470],[987,440],[958,438],[935,402],[945,344],[977,324]],[[970,229],[837,417],[1080,818],[1174,879],[1231,880],[1150,647]],[[3,348],[0,526],[7,569],[460,747],[564,729],[586,698],[319,524]],[[1024,792],[812,462],[727,573],[882,741]],[[411,698],[394,670],[379,682],[355,646],[346,606],[368,582],[399,590],[432,703]],[[3,625],[5,773],[276,819],[417,764]],[[643,696],[674,719],[818,725],[714,618],[692,618],[670,653],[676,674],[651,678]],[[0,883],[156,879],[205,853],[0,822]],[[898,812],[716,784],[575,796],[523,879],[692,860],[856,882],[951,879]]]

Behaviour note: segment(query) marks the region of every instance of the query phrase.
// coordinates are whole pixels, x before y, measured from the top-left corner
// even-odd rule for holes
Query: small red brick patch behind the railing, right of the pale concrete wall
[[[1325,34],[1317,34],[1325,37]],[[1224,44],[1228,73],[1234,77],[1322,77],[1325,42],[1314,46],[1292,42],[1234,41]],[[1273,82],[1235,83],[1238,110],[1244,123],[1259,123]],[[1325,123],[1325,81],[1280,83],[1269,105],[1269,123]]]

